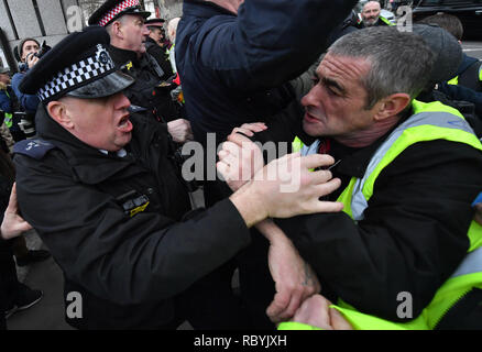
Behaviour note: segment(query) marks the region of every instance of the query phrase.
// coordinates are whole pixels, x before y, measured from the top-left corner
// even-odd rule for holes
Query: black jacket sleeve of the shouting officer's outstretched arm
[[[50,152],[47,164],[15,156],[19,205],[66,276],[99,298],[172,297],[250,242],[229,199],[184,222],[153,212],[129,218],[111,196],[61,172],[59,154]]]

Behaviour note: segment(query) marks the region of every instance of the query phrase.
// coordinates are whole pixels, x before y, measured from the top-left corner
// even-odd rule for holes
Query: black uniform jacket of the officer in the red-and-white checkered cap
[[[123,92],[132,105],[147,109],[150,117],[160,122],[168,122],[179,118],[179,111],[171,97],[175,87],[164,82],[167,75],[149,53],[138,58],[132,51],[109,47],[109,54],[117,68],[135,79],[135,82]],[[125,66],[124,66],[125,65]]]

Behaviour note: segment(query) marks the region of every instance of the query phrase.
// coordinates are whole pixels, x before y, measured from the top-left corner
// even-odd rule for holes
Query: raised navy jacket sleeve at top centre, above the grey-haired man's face
[[[207,21],[197,35],[202,65],[227,87],[273,88],[305,72],[354,0],[249,0],[234,21]]]

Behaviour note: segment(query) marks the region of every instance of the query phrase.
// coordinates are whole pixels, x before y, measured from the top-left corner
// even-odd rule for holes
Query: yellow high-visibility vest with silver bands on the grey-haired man
[[[377,148],[372,156],[363,178],[353,177],[338,198],[343,202],[343,211],[353,220],[363,219],[363,211],[373,195],[376,177],[405,148],[424,141],[447,140],[468,144],[482,151],[482,144],[473,134],[472,129],[462,114],[453,108],[436,101],[424,103],[413,101],[414,114],[399,124]],[[314,144],[319,144],[317,141]],[[316,153],[318,145],[303,145],[295,139],[293,151],[300,151],[302,155]],[[472,288],[482,288],[482,227],[472,221],[468,237],[470,248],[467,256],[443,285],[437,290],[432,300],[421,311],[420,316],[409,322],[393,322],[374,316],[365,315],[353,307],[339,301],[331,307],[339,310],[354,329],[363,330],[393,330],[416,329],[426,330],[437,327],[449,309],[467,295]],[[285,322],[282,330],[304,329],[304,324]]]

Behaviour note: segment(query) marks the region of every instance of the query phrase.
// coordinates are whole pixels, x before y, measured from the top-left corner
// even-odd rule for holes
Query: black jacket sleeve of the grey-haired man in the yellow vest
[[[405,150],[379,176],[364,220],[325,213],[280,221],[321,286],[357,309],[399,320],[408,292],[416,318],[469,249],[471,202],[482,189],[479,151],[435,141]]]

